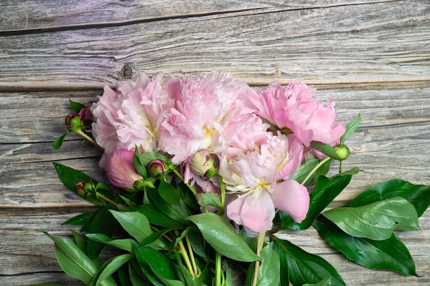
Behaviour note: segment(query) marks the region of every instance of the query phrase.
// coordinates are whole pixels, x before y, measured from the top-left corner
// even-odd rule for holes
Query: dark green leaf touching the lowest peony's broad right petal
[[[324,176],[317,177],[315,188],[310,193],[310,204],[306,218],[302,223],[296,223],[289,215],[280,212],[282,228],[291,230],[305,230],[309,228],[324,208],[350,184],[351,178],[351,175],[338,175],[330,179]]]

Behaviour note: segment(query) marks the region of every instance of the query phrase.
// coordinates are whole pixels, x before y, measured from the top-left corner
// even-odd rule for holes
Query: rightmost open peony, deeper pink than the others
[[[311,141],[334,146],[345,132],[343,124],[335,124],[335,102],[313,98],[315,89],[304,83],[272,83],[257,92],[250,97],[256,114],[280,129],[290,129],[305,146]]]

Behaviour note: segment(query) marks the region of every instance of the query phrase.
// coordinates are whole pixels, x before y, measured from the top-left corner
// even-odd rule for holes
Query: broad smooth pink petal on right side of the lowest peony
[[[309,209],[309,193],[306,187],[297,181],[287,179],[276,185],[271,199],[275,208],[290,214],[297,223],[301,223],[306,218]]]

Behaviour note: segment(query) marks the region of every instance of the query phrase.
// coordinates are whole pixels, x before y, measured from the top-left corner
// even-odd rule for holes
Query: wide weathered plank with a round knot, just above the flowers
[[[126,63],[148,74],[218,69],[252,84],[428,83],[429,7],[396,1],[0,36],[0,89],[101,88]]]

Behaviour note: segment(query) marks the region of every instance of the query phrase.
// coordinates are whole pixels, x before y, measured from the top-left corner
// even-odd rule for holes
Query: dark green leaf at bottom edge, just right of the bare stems
[[[288,267],[289,278],[293,285],[318,283],[327,277],[331,277],[331,285],[345,285],[335,268],[320,256],[310,254],[297,245],[276,236],[271,236],[271,239],[275,242],[273,249],[280,256],[281,267]],[[285,276],[281,278],[283,280]]]

